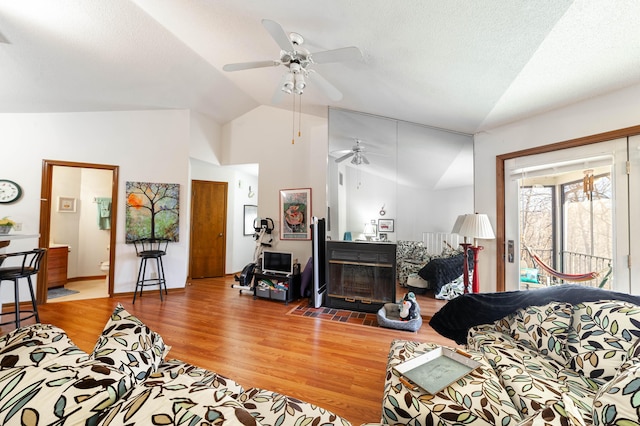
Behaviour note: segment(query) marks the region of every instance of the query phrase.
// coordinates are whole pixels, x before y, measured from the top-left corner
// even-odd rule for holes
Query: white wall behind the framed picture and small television
[[[327,120],[302,114],[301,137],[292,140],[290,111],[260,106],[223,127],[223,164],[260,167],[258,216],[275,222],[274,250],[292,252],[301,264],[311,256],[310,241],[280,241],[281,189],[311,188],[312,214],[325,217]]]

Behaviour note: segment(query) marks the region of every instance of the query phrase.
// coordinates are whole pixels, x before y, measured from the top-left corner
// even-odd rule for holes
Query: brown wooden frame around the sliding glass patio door
[[[619,138],[640,135],[640,126],[626,127],[598,133],[577,139],[541,145],[507,154],[496,155],[496,291],[505,291],[506,248],[505,248],[505,161],[533,154],[559,151],[567,148],[606,142]]]

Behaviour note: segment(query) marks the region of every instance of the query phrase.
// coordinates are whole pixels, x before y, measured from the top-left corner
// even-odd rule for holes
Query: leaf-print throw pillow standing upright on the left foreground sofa
[[[91,358],[129,374],[140,383],[158,369],[169,349],[158,333],[118,303]]]

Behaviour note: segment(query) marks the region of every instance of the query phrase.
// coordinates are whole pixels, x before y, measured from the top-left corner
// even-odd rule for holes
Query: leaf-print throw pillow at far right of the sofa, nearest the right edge
[[[608,382],[640,336],[640,307],[602,300],[576,304],[573,310],[568,367],[600,384]]]

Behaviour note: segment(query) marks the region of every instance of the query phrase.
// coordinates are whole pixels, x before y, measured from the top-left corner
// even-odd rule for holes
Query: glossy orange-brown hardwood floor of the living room
[[[160,333],[177,358],[259,387],[317,404],[354,425],[378,422],[389,346],[394,339],[455,346],[425,321],[417,333],[287,315],[298,302],[265,299],[232,289],[230,277],[193,281],[160,302],[157,292],[48,303],[40,320],[67,331],[90,352],[115,305]],[[306,299],[299,303],[305,303]],[[421,298],[424,313],[442,301]],[[8,330],[3,329],[6,333]]]

